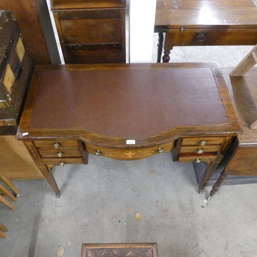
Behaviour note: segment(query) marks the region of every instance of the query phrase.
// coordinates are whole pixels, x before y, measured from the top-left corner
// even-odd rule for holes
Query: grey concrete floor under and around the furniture
[[[153,62],[157,35],[154,35]],[[175,47],[172,62],[234,67],[247,47]],[[1,257],[80,256],[82,243],[157,242],[160,257],[256,256],[257,185],[224,186],[209,204],[197,193],[191,163],[171,154],[138,161],[90,155],[89,164],[56,167],[57,199],[45,180],[14,181],[16,211],[0,205]],[[136,212],[141,220],[136,219]]]

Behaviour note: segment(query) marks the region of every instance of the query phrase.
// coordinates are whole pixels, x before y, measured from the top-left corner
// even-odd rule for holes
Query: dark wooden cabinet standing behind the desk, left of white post
[[[125,1],[51,0],[65,63],[125,63]]]

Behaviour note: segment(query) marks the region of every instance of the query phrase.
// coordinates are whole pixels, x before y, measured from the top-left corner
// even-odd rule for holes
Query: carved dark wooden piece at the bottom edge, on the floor
[[[149,244],[83,244],[82,257],[140,256],[158,257],[157,243]]]

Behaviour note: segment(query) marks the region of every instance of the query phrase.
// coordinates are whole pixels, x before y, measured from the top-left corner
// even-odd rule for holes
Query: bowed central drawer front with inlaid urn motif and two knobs
[[[85,149],[90,154],[105,156],[118,160],[138,160],[154,154],[167,153],[173,149],[174,142],[150,146],[144,148],[104,148],[89,143],[85,143]]]

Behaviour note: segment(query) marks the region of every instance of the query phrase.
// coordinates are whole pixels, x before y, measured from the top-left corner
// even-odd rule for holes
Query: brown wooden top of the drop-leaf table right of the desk
[[[237,136],[238,142],[240,145],[256,145],[257,130],[252,130],[250,125],[257,120],[257,67],[244,77],[229,77],[232,70],[224,68],[222,72],[243,129],[243,133]]]

